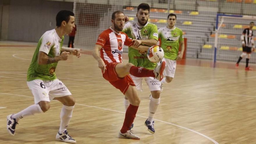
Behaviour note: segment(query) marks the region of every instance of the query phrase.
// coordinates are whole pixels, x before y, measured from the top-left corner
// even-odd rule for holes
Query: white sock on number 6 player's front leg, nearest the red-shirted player
[[[70,122],[70,119],[72,117],[73,109],[75,106],[65,106],[63,105],[61,109],[61,126],[60,126],[60,133],[63,133]]]

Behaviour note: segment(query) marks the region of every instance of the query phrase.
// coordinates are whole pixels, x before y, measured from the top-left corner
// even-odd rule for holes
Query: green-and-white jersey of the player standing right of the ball
[[[163,48],[164,58],[176,60],[179,51],[179,43],[184,41],[183,32],[175,27],[168,29],[167,27],[158,30],[160,47]]]

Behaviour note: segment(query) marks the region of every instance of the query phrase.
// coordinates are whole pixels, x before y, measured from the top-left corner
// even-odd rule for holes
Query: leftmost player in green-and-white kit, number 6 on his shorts
[[[56,28],[45,32],[40,38],[27,74],[27,84],[34,96],[35,104],[16,114],[7,116],[9,134],[14,136],[16,125],[20,119],[36,113],[46,112],[50,108],[50,100],[56,99],[63,103],[61,125],[56,140],[76,143],[67,132],[75,99],[55,75],[58,61],[67,60],[70,53],[77,57],[81,55],[77,50],[63,51],[62,49],[64,35],[71,33],[74,27],[74,13],[61,10],[56,15]]]

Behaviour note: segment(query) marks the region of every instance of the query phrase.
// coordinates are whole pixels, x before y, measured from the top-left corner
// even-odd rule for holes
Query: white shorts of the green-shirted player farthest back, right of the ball
[[[166,62],[165,69],[163,71],[163,75],[167,77],[174,78],[175,70],[176,70],[176,61],[175,60],[169,60],[167,58],[163,58],[162,61]]]

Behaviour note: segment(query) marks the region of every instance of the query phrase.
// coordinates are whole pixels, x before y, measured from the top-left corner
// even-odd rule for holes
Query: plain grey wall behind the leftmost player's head
[[[8,40],[38,42],[45,31],[56,27],[60,10],[73,10],[72,2],[10,0]],[[65,36],[64,43],[67,43]]]

